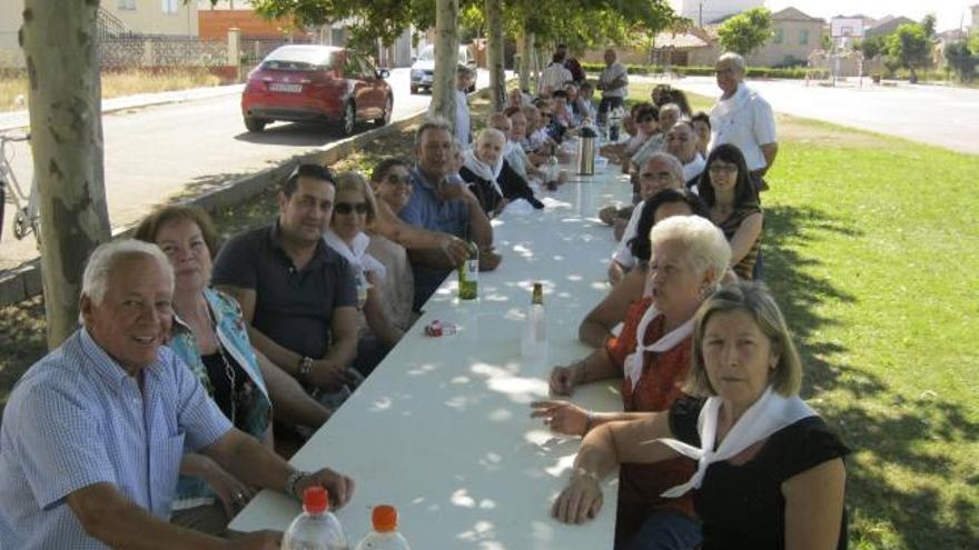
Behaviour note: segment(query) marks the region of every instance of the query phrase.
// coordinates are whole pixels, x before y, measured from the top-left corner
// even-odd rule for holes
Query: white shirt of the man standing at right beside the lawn
[[[731,143],[741,149],[749,170],[768,163],[761,146],[775,142],[775,117],[772,106],[754,90],[738,84],[738,91],[718,101],[711,109],[711,149]]]

